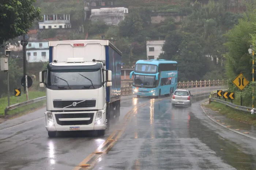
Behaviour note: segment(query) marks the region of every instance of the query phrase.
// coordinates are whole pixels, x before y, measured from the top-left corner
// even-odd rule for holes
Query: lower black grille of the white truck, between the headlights
[[[69,114],[55,114],[57,124],[64,125],[87,125],[93,122],[94,113],[69,113]],[[90,118],[90,120],[72,120],[60,121],[61,118]]]

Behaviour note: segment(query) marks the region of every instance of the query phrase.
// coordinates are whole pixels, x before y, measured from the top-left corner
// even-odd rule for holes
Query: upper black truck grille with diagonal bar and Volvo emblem
[[[54,108],[86,108],[95,107],[96,100],[53,101]]]

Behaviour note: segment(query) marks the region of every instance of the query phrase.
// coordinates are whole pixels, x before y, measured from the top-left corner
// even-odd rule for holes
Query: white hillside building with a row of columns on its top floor
[[[71,28],[69,14],[45,14],[44,21],[38,22],[39,29]]]

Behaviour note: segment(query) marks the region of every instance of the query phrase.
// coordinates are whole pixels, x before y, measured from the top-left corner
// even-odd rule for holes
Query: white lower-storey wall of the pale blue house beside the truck
[[[28,53],[30,52],[30,56]],[[34,56],[34,52],[37,53],[36,56]],[[42,56],[42,52],[45,52],[46,56]],[[27,50],[27,62],[48,62],[49,61],[49,49],[43,49],[43,50]]]

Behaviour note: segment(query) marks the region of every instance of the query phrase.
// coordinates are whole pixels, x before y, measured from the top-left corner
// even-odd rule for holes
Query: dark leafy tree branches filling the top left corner
[[[34,20],[39,20],[40,9],[35,0],[2,0],[0,3],[0,44],[29,31]]]

